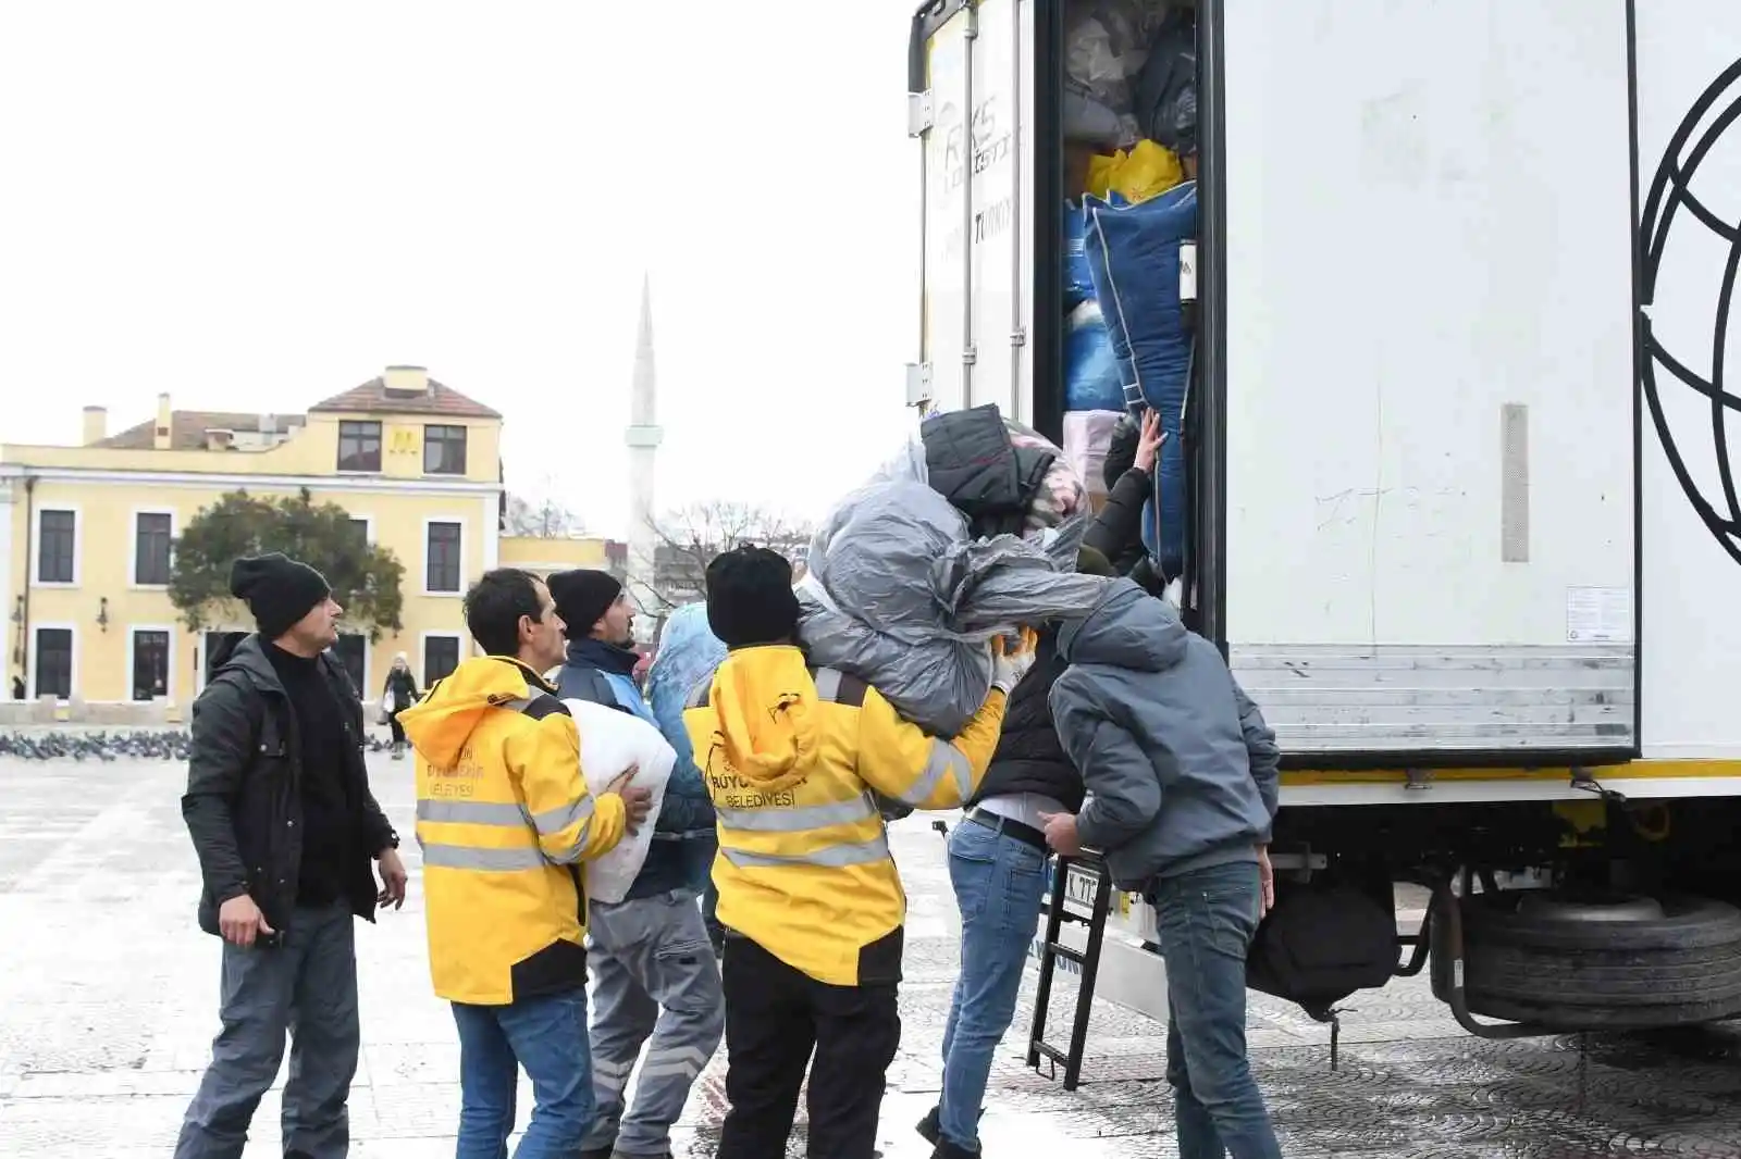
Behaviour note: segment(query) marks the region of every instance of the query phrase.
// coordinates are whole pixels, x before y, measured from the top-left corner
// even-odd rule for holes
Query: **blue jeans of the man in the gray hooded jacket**
[[[1257,863],[1163,877],[1149,900],[1166,959],[1179,1159],[1281,1159],[1245,1056],[1245,954],[1262,917]]]

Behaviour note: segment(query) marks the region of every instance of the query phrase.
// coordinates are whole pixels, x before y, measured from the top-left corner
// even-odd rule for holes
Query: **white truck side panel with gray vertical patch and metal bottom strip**
[[[1222,7],[1238,677],[1292,752],[1630,747],[1624,5]]]

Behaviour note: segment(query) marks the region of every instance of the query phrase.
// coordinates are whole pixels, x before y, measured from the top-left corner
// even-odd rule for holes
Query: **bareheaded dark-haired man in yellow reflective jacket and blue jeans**
[[[399,722],[418,755],[418,846],[435,994],[460,1028],[460,1157],[507,1154],[519,1069],[533,1081],[519,1156],[576,1156],[592,1128],[583,861],[648,814],[625,773],[597,797],[580,734],[541,672],[562,618],[529,573],[486,573],[465,623],[489,653]]]

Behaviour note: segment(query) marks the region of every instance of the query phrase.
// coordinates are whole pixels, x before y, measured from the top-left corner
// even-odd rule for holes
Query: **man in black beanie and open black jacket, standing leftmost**
[[[204,879],[200,928],[223,938],[223,1030],[176,1159],[240,1157],[291,1027],[284,1156],[343,1159],[360,1039],[353,917],[404,905],[406,867],[369,794],[362,703],[327,653],[343,609],[326,580],[258,555],[235,562],[230,592],[259,632],[214,658],[193,701],[181,799]]]

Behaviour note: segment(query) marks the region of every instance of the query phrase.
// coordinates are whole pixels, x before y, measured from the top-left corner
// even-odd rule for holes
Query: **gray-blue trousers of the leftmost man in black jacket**
[[[298,907],[284,945],[223,943],[212,1062],[181,1122],[176,1159],[240,1159],[259,1096],[279,1077],[284,1035],[284,1154],[345,1159],[350,1081],[357,1074],[355,917],[343,901]]]

